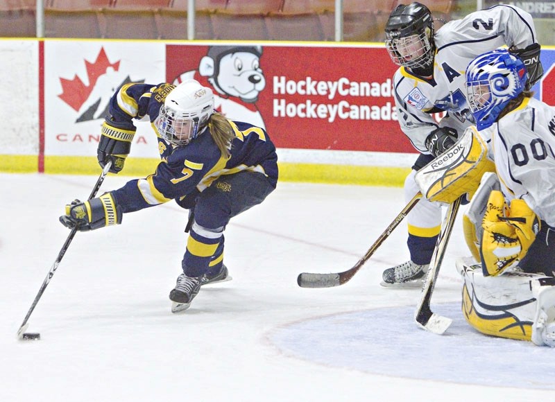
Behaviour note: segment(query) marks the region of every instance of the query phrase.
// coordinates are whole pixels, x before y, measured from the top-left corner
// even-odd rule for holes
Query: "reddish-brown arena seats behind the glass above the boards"
[[[455,0],[420,0],[445,18]],[[404,0],[344,0],[343,40],[382,42]],[[335,38],[335,0],[196,0],[198,40]],[[0,36],[35,36],[35,0],[0,0]],[[187,39],[187,0],[45,0],[46,37]]]

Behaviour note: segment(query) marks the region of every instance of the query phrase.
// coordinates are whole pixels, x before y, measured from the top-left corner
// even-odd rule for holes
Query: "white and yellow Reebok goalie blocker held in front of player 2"
[[[495,172],[487,155],[486,141],[471,126],[454,146],[416,173],[416,184],[427,200],[451,204],[465,193],[475,193],[484,173]]]

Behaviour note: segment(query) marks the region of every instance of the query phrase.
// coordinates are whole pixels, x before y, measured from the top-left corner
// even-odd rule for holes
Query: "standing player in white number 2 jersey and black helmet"
[[[404,183],[405,198],[418,192],[414,175],[445,152],[474,123],[466,101],[464,72],[481,53],[507,45],[529,65],[529,84],[542,75],[540,46],[528,12],[498,5],[447,22],[434,32],[426,6],[400,5],[386,24],[386,48],[400,68],[394,96],[400,128],[421,153]],[[447,112],[437,123],[436,112]],[[383,273],[383,286],[420,286],[441,229],[441,204],[422,198],[407,217],[411,259]]]

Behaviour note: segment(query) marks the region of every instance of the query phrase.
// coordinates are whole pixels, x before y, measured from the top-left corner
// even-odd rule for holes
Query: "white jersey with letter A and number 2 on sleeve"
[[[398,120],[414,148],[429,153],[425,139],[439,127],[432,116],[435,112],[447,112],[448,121],[441,125],[455,128],[459,134],[474,123],[466,102],[465,80],[472,60],[503,45],[524,49],[536,41],[531,15],[506,5],[472,12],[438,29],[433,78],[413,76],[404,67],[393,76]]]

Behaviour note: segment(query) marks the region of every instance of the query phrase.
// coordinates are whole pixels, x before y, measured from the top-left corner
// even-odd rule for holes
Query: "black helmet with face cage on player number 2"
[[[386,23],[386,47],[391,60],[409,69],[429,69],[434,62],[434,19],[421,3],[400,4]]]

